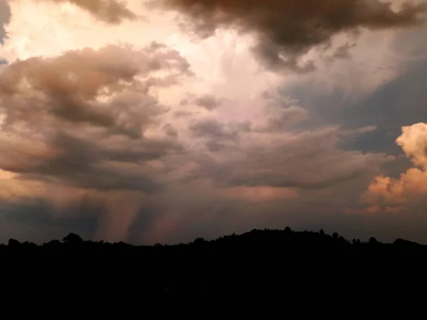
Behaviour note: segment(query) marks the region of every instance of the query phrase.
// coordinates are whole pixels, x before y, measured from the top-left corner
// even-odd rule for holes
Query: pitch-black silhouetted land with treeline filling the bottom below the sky
[[[149,307],[154,299],[205,311],[209,306],[209,312],[227,309],[226,302],[242,312],[267,302],[283,308],[281,316],[293,309],[300,316],[325,311],[344,319],[427,310],[427,246],[401,239],[350,242],[287,228],[133,246],[70,234],[44,245],[9,240],[0,246],[0,261],[6,297],[16,303],[41,299],[51,308],[71,303],[74,309],[129,309]]]

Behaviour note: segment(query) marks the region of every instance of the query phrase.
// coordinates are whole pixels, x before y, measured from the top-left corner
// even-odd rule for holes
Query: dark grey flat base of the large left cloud
[[[153,180],[150,176],[153,173],[144,166],[144,162],[160,159],[169,152],[181,151],[181,146],[167,139],[142,142],[132,150],[126,146],[102,147],[95,142],[63,133],[56,134],[47,145],[53,155],[28,158],[25,151],[18,151],[14,156],[26,157],[26,161],[8,161],[1,157],[0,168],[20,174],[21,179],[78,188],[154,192],[159,191],[162,186]],[[0,149],[3,154],[12,155],[6,146],[1,146]],[[110,161],[141,165],[138,173],[135,173],[127,171],[125,166],[106,166]]]

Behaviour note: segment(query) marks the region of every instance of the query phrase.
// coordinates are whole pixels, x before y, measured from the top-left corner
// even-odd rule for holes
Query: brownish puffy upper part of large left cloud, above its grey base
[[[174,84],[188,68],[178,53],[157,45],[18,60],[0,74],[4,126],[43,119],[61,126],[92,124],[137,139],[167,111],[149,90]],[[165,71],[162,78],[156,74]]]

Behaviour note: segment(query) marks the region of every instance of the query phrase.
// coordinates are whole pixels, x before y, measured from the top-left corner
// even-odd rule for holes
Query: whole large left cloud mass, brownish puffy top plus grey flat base
[[[75,188],[157,191],[147,163],[184,149],[173,137],[152,136],[168,109],[150,90],[188,70],[164,49],[110,46],[4,66],[0,169]]]

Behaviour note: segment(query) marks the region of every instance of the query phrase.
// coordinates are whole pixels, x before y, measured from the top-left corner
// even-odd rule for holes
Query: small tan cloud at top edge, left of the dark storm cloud
[[[80,9],[86,10],[96,18],[107,23],[120,23],[125,19],[135,19],[135,13],[127,9],[122,0],[35,0],[52,1],[56,4],[74,4]]]

